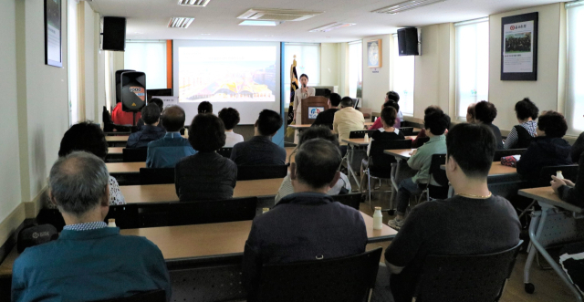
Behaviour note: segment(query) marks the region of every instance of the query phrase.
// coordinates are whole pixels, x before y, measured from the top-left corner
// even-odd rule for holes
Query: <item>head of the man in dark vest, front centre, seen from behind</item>
[[[342,157],[339,147],[330,141],[312,139],[300,145],[290,165],[290,179],[295,192],[327,193],[338,181]]]

